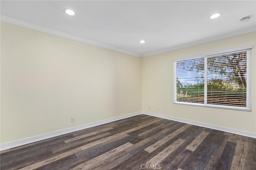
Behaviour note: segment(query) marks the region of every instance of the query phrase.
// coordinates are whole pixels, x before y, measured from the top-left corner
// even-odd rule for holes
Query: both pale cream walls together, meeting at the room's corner
[[[139,58],[1,22],[1,144],[142,110],[255,133],[255,41],[253,32]],[[252,112],[173,104],[173,59],[246,45]]]

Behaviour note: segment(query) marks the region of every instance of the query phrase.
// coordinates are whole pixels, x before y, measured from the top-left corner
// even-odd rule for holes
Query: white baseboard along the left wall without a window
[[[128,115],[114,117],[114,118],[106,119],[106,120],[103,120],[103,121],[89,123],[89,124],[86,124],[86,125],[67,128],[67,129],[58,130],[58,131],[55,131],[55,132],[50,132],[50,133],[41,134],[41,135],[38,135],[38,136],[33,136],[33,137],[30,137],[30,138],[25,138],[25,139],[22,139],[22,140],[16,140],[16,141],[13,141],[13,142],[0,144],[0,150],[6,150],[6,149],[9,149],[9,148],[14,148],[14,147],[21,146],[21,145],[24,145],[24,144],[37,142],[39,140],[52,138],[52,137],[59,136],[59,135],[62,135],[62,134],[67,134],[67,133],[74,132],[74,131],[77,131],[77,130],[82,130],[82,129],[85,129],[85,128],[95,127],[95,126],[98,126],[98,125],[118,121],[120,119],[125,119],[125,118],[128,118],[128,117],[132,117],[132,116],[136,116],[136,115],[140,115],[140,114],[142,114],[142,112],[131,113],[131,114],[128,114]]]

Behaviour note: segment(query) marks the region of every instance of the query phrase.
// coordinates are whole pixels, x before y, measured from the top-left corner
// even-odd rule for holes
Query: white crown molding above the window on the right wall
[[[199,45],[199,44],[202,44],[202,43],[213,42],[213,41],[216,41],[216,40],[221,40],[221,39],[224,39],[224,38],[230,38],[230,37],[233,37],[233,36],[238,36],[238,35],[241,35],[241,34],[246,34],[246,33],[255,32],[255,31],[256,31],[256,27],[250,27],[250,28],[247,28],[247,29],[244,29],[244,30],[238,30],[238,31],[230,32],[228,34],[222,34],[222,35],[214,36],[214,37],[207,38],[207,39],[204,39],[204,40],[199,40],[199,41],[192,42],[192,43],[186,43],[186,44],[183,44],[183,45],[177,45],[177,46],[170,47],[170,48],[167,48],[167,49],[154,51],[152,53],[146,53],[146,54],[143,54],[141,57],[148,57],[150,55],[166,53],[166,52],[174,51],[174,50],[177,50],[177,49],[191,47],[191,46]]]

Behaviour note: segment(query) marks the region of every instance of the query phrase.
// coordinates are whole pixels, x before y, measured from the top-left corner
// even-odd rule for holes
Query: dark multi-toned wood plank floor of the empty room
[[[256,139],[138,115],[3,150],[0,169],[256,170]]]

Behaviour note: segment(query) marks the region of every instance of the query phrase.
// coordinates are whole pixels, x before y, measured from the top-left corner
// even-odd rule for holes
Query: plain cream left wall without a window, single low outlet
[[[1,22],[1,143],[142,111],[141,60]]]

